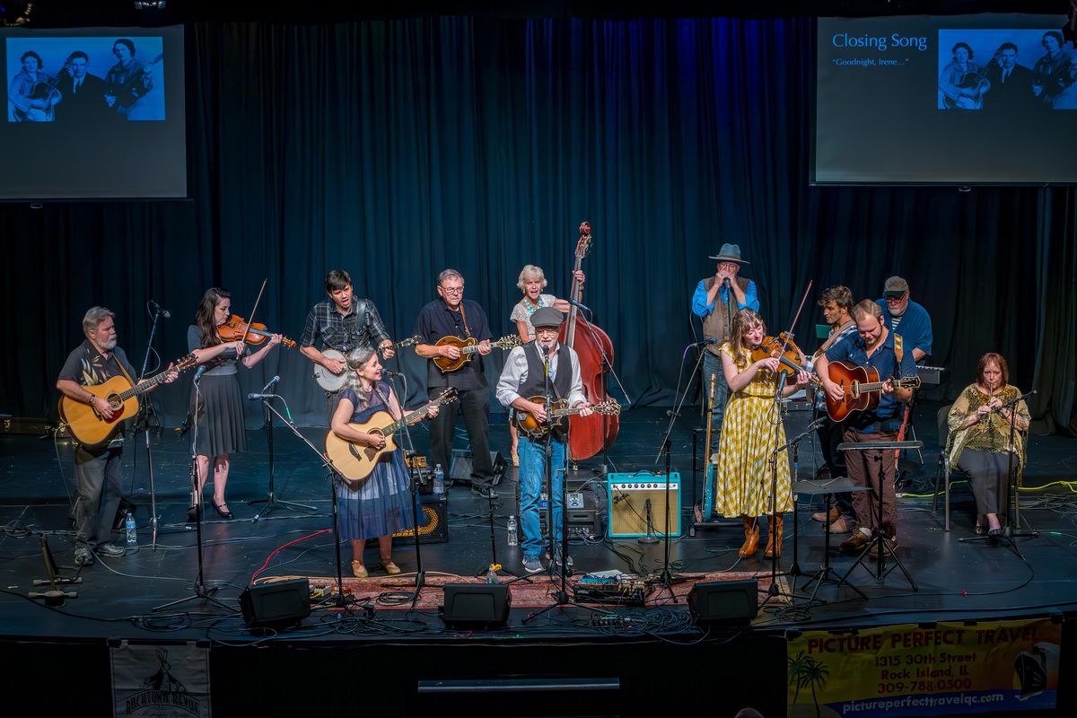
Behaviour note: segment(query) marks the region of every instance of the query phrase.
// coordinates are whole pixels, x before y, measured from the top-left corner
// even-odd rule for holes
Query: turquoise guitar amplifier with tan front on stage
[[[671,536],[681,535],[681,475],[670,474],[669,520]],[[666,475],[606,474],[606,508],[610,511],[610,538],[635,538],[647,534],[647,503],[651,505],[651,533],[665,536]]]

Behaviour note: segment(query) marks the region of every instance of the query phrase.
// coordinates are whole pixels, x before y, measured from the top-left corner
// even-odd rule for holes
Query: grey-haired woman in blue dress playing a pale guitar
[[[340,392],[340,403],[333,413],[333,433],[359,446],[381,449],[386,437],[360,432],[349,424],[369,421],[378,411],[388,411],[392,420],[400,419],[401,406],[388,382],[381,381],[381,363],[374,349],[360,347],[348,354],[352,370],[349,386]],[[437,407],[426,409],[426,418],[437,416]],[[387,419],[384,423],[390,423]],[[380,423],[378,424],[380,425]],[[411,507],[411,484],[404,452],[397,448],[381,456],[374,473],[359,488],[342,481],[337,483],[339,503],[338,529],[342,538],[351,540],[351,573],[366,578],[363,548],[367,538],[377,537],[381,567],[390,576],[401,573],[393,563],[393,534],[415,526]]]

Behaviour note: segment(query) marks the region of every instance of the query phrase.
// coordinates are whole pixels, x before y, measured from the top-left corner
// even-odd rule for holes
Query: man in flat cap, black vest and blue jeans
[[[561,328],[561,312],[553,307],[542,307],[531,315],[531,324],[535,327],[534,341],[522,347],[516,347],[508,353],[505,368],[498,380],[498,400],[503,407],[513,407],[517,412],[534,417],[541,424],[546,423],[546,407],[533,397],[546,395],[546,374],[549,372],[550,398],[568,399],[570,407],[583,410],[582,417],[587,417],[591,410],[584,396],[584,382],[579,376],[579,357],[571,347],[559,344],[558,332]],[[561,533],[561,513],[564,510],[562,481],[559,469],[564,466],[564,436],[560,430],[554,428],[549,437],[553,449],[550,459],[551,491],[548,492],[553,506],[554,536],[558,545],[563,540]],[[543,569],[540,562],[542,554],[542,529],[538,525],[538,494],[542,491],[543,479],[546,476],[546,441],[520,435],[520,527],[523,537],[520,549],[523,552],[523,568],[529,574]],[[555,554],[551,567],[557,565]],[[565,557],[571,566],[572,559]]]

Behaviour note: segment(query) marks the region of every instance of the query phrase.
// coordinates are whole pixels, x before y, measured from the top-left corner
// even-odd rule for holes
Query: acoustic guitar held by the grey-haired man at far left
[[[100,396],[112,407],[112,419],[106,419],[97,409],[83,404],[70,396],[60,397],[60,419],[67,424],[68,432],[84,447],[94,449],[112,440],[120,422],[138,413],[138,395],[144,394],[168,378],[172,369],[186,371],[197,364],[194,354],[187,354],[171,367],[149,379],[143,379],[134,386],[127,377],[120,375],[106,382],[83,386],[94,396]]]

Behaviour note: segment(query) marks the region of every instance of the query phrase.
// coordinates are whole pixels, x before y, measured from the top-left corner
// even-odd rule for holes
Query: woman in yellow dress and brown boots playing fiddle
[[[759,545],[759,517],[777,516],[767,537],[766,557],[782,555],[783,513],[793,510],[789,457],[778,456],[778,501],[771,505],[773,477],[770,460],[774,448],[785,444],[785,428],[774,402],[779,360],[752,360],[752,349],[763,343],[767,327],[755,311],[742,309],[733,316],[730,339],[718,350],[729,383],[729,404],[718,440],[718,471],[714,509],[722,516],[739,516],[744,523],[744,545],[738,553],[749,557]],[[808,384],[798,371],[795,383],[782,389],[791,396]]]

